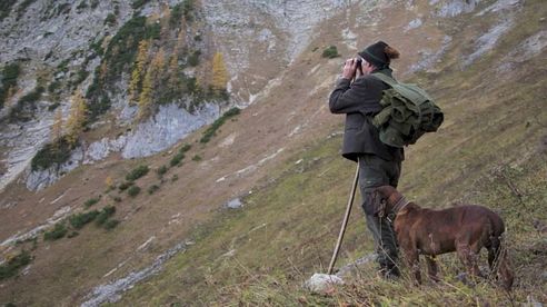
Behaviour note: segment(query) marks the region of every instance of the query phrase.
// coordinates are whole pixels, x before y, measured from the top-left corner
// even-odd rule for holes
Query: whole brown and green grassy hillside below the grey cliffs
[[[530,39],[545,43],[547,6],[518,1],[510,29],[470,61],[479,38],[501,22],[495,12],[478,12],[506,1],[481,1],[454,18],[430,17],[408,32],[404,26],[434,1],[416,1],[412,14],[402,2],[366,14],[348,8],[326,20],[257,102],[231,109],[165,152],[132,160],[112,155],[38,192],[11,185],[0,202],[2,241],[42,228],[0,246],[7,259],[0,264],[0,304],[78,306],[98,286],[151,267],[155,274],[112,293],[102,306],[547,304],[547,55],[545,48],[535,52]],[[461,283],[464,267],[455,255],[439,257],[438,284],[425,278],[415,287],[404,266],[400,280],[387,281],[367,263],[327,294],[302,288],[314,273],[327,270],[355,171],[340,156],[344,118],[327,107],[342,60],[321,52],[336,44],[337,55],[354,55],[341,43],[339,24],[368,14],[378,20],[370,18],[359,46],[392,43],[402,53],[396,76],[426,88],[445,112],[438,132],[406,149],[400,191],[422,207],[481,204],[497,211],[506,222],[513,294],[493,278]],[[421,44],[445,49],[428,69],[412,72]],[[159,52],[160,46],[153,48]],[[100,138],[102,131],[84,135]],[[230,200],[242,206],[230,208]],[[374,250],[359,200],[338,268]]]

